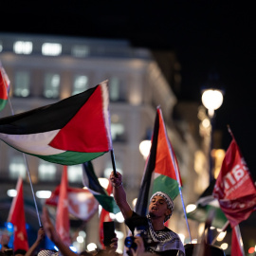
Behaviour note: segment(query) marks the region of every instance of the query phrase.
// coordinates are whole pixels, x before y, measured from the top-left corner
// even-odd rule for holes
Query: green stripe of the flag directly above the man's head
[[[178,183],[166,175],[159,175],[154,180],[153,193],[155,192],[166,192],[174,200],[179,194]]]

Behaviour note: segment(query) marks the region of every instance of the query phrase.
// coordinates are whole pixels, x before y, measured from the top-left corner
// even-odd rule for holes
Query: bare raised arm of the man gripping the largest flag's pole
[[[122,186],[122,176],[117,172],[117,177],[115,176],[114,172],[110,174],[110,181],[113,186],[113,194],[117,205],[124,217],[124,219],[128,219],[133,215],[133,210],[129,206],[127,199],[126,199],[126,192]]]

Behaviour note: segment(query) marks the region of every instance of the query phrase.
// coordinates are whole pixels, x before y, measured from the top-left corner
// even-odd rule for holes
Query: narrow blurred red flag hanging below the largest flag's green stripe
[[[64,166],[62,182],[60,187],[60,197],[56,214],[56,230],[61,236],[63,242],[69,246],[69,217],[68,217],[68,201],[67,201],[67,170]]]

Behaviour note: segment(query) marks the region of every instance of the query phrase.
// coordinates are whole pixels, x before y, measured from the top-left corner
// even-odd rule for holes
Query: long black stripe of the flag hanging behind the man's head
[[[141,187],[137,197],[136,212],[141,216],[146,216],[147,210],[148,210],[148,198],[149,198],[149,191],[151,186],[151,178],[155,170],[155,158],[156,158],[158,132],[159,132],[159,115],[158,115],[158,112],[156,112],[154,134],[153,134],[153,141],[152,141],[152,146],[150,150],[150,156],[148,159],[146,170],[143,175],[143,180],[142,180]]]

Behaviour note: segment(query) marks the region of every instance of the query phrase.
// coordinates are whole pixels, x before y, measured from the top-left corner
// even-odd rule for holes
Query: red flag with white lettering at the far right
[[[223,160],[213,196],[218,199],[232,228],[256,210],[256,188],[234,137]]]

